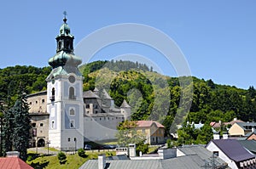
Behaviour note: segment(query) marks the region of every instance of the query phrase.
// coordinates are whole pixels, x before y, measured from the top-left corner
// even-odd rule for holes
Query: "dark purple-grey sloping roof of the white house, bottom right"
[[[255,158],[235,139],[213,139],[211,142],[233,161],[247,161]]]

